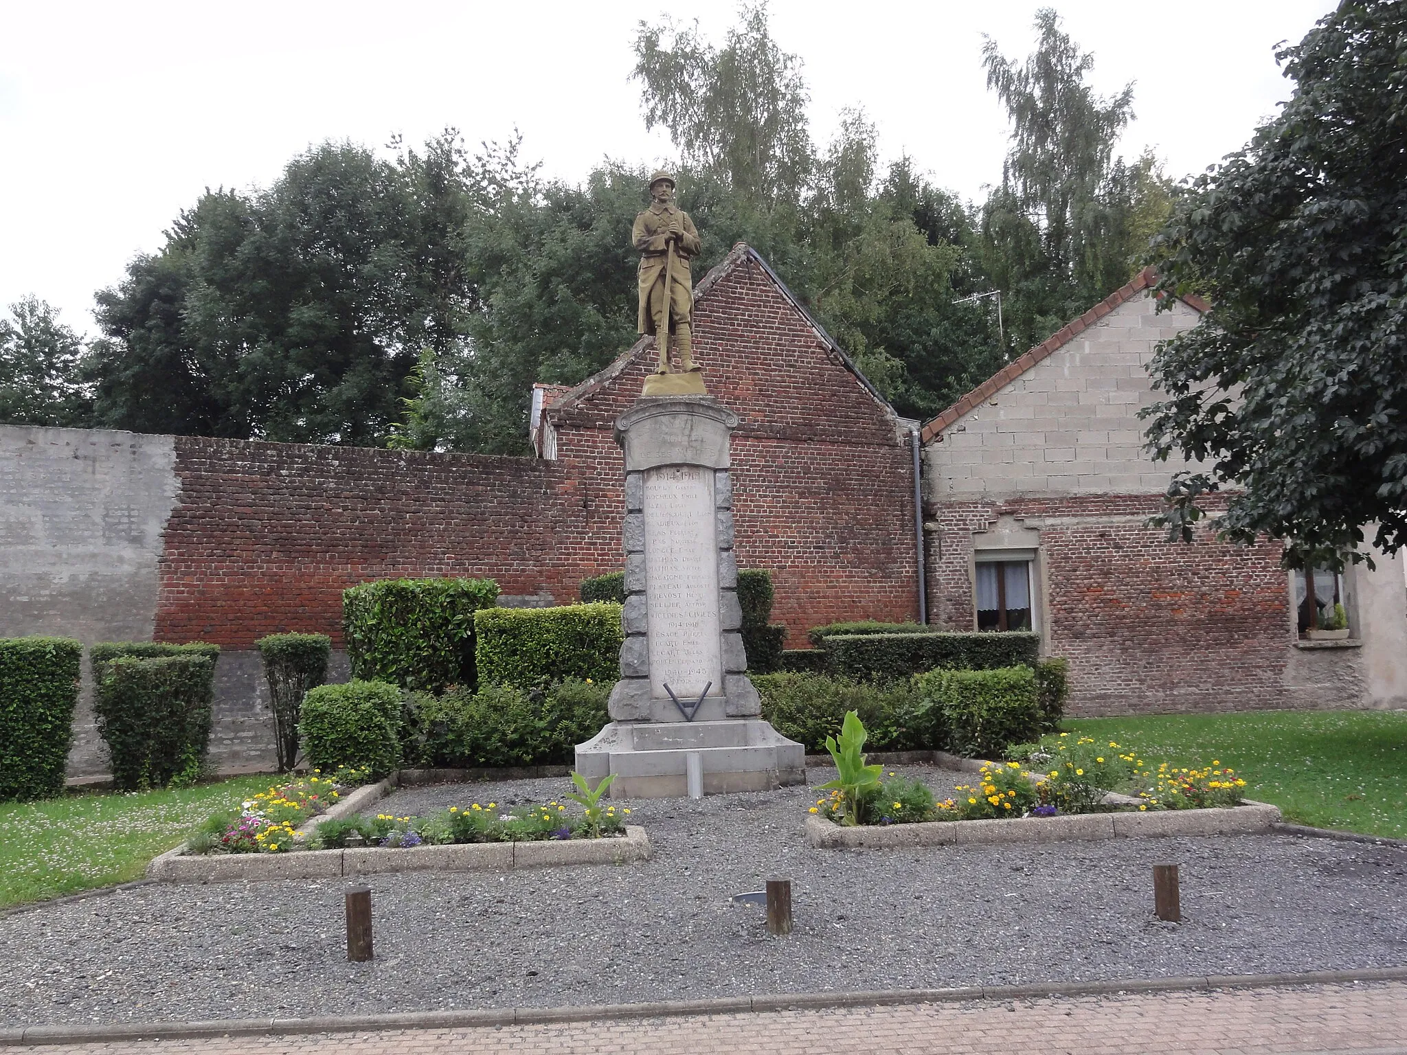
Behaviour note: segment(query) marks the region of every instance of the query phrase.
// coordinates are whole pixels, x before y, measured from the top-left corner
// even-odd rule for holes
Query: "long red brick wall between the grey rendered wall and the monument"
[[[582,568],[619,549],[619,523],[612,536],[568,473],[530,459],[177,437],[156,639],[248,648],[303,630],[340,643],[342,591],[398,575],[573,595]]]

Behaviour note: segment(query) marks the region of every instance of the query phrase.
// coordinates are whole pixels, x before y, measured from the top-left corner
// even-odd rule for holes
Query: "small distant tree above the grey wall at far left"
[[[11,304],[10,318],[0,318],[0,425],[87,425],[84,352],[83,339],[45,301],[31,295]]]

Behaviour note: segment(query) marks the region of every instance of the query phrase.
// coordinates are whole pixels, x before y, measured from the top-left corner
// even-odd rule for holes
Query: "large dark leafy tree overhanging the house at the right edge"
[[[1204,466],[1169,487],[1173,536],[1233,487],[1225,537],[1339,567],[1366,525],[1407,544],[1407,7],[1346,0],[1279,58],[1290,100],[1155,239],[1159,287],[1211,309],[1159,349],[1144,415],[1159,457]]]

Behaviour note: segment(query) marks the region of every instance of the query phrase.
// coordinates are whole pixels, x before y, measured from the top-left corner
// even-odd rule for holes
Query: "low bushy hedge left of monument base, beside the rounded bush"
[[[570,765],[575,746],[611,720],[611,682],[568,678],[546,691],[484,685],[477,693],[450,689],[443,696],[411,693],[404,741],[407,764],[476,768]]]

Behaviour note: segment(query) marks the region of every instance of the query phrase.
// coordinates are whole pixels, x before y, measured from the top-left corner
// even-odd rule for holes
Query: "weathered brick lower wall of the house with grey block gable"
[[[972,629],[972,532],[1010,515],[1040,529],[1043,646],[1069,660],[1071,713],[1356,706],[1352,657],[1294,648],[1279,547],[1228,546],[1204,532],[1169,543],[1142,526],[1159,508],[1158,495],[931,508],[933,622]]]

